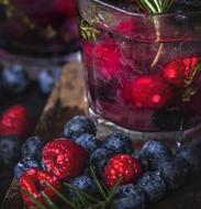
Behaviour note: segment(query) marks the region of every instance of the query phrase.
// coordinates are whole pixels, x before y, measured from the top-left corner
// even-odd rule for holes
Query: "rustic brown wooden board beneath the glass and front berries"
[[[86,113],[87,105],[83,100],[85,85],[81,76],[81,65],[68,65],[52,94],[41,117],[35,133],[45,141],[60,136],[66,121],[76,114]],[[21,209],[22,200],[16,179],[4,198],[1,209]],[[201,175],[189,182],[164,200],[148,209],[201,209]]]

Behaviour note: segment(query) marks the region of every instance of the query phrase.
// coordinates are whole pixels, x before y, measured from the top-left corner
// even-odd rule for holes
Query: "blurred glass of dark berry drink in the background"
[[[75,0],[0,1],[0,48],[7,65],[64,63],[79,48]]]

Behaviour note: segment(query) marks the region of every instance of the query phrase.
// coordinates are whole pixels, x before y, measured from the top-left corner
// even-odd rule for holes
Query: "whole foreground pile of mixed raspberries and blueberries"
[[[91,165],[108,189],[120,184],[113,209],[144,209],[201,172],[197,147],[183,145],[172,153],[163,142],[148,141],[137,154],[126,135],[113,133],[99,141],[96,132],[91,120],[78,116],[66,123],[60,139],[46,144],[38,136],[26,140],[14,168],[26,205],[35,206],[29,194],[45,205],[45,193],[56,202],[57,195],[47,185],[63,193],[65,182],[96,196]],[[76,198],[75,191],[67,193]]]

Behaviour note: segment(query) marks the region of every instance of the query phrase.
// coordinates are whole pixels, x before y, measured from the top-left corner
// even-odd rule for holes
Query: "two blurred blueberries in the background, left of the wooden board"
[[[59,77],[58,68],[41,70],[37,77],[40,89],[49,94]],[[29,72],[21,65],[13,65],[0,70],[0,98],[7,92],[21,94],[29,89],[31,79]]]

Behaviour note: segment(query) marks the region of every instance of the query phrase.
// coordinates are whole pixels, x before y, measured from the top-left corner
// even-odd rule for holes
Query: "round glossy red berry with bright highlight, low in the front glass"
[[[138,76],[132,85],[132,101],[138,108],[158,109],[172,99],[172,89],[158,75]]]

